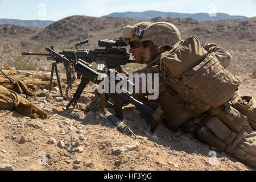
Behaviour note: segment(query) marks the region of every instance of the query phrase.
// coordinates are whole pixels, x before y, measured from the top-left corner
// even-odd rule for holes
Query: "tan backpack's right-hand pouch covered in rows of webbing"
[[[228,102],[239,85],[238,78],[224,69],[212,54],[185,72],[182,82],[210,107],[218,107]]]

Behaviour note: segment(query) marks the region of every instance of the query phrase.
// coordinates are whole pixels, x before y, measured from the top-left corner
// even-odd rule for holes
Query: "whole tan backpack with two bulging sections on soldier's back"
[[[177,93],[203,113],[228,102],[239,80],[226,71],[217,58],[208,54],[195,37],[181,40],[162,53],[159,64],[152,67]]]

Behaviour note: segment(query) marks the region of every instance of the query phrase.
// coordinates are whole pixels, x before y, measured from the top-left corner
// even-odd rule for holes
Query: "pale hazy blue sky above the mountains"
[[[256,0],[0,0],[0,18],[60,20],[72,15],[103,16],[126,11],[227,13],[256,16]]]

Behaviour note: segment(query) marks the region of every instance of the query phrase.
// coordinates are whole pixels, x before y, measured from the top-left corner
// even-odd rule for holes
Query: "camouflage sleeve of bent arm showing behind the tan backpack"
[[[226,68],[228,67],[230,61],[231,61],[231,55],[226,49],[221,48],[217,46],[216,44],[208,43],[204,44],[205,50],[207,50],[209,53],[213,53],[218,61],[220,61],[220,64],[222,67]]]

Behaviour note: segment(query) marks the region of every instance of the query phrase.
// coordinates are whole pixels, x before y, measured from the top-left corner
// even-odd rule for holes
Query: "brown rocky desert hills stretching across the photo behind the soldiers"
[[[161,18],[151,20],[113,17],[69,16],[61,19],[48,27],[30,28],[22,26],[0,26],[0,35],[11,38],[3,42],[11,42],[12,39],[21,39],[22,47],[40,48],[55,45],[60,48],[73,48],[73,45],[88,39],[87,48],[94,48],[99,39],[118,39],[122,28],[127,24],[138,22],[170,22],[175,24],[181,32],[182,38],[197,36],[203,42],[213,42],[224,47],[254,47],[256,40],[256,18],[210,20],[197,22],[192,18]],[[27,36],[24,39],[24,36]]]

